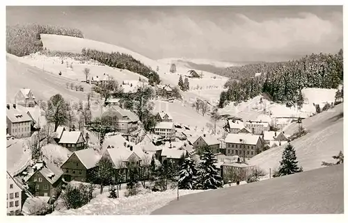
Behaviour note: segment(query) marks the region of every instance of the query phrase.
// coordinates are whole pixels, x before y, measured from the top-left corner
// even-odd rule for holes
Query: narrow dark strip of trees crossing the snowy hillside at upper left
[[[140,60],[136,60],[127,53],[111,52],[105,53],[95,49],[82,49],[83,56],[97,60],[109,67],[128,69],[131,72],[141,74],[149,79],[149,83],[159,83],[159,75],[151,67],[145,66]]]

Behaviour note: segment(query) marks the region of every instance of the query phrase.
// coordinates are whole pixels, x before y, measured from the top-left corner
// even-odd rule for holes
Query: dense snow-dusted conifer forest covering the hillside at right
[[[246,101],[262,92],[273,101],[302,104],[303,88],[338,88],[343,81],[342,49],[333,54],[312,54],[299,60],[283,63],[244,65],[239,68],[247,74],[240,81],[230,79],[220,94],[219,107],[228,101]],[[255,72],[262,73],[255,76]],[[250,77],[253,76],[253,77]]]

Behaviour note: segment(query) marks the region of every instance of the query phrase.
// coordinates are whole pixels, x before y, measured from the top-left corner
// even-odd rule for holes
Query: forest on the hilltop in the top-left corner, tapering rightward
[[[25,24],[6,26],[6,51],[15,56],[26,56],[42,51],[43,44],[40,34],[68,35],[84,38],[77,28],[42,24]]]

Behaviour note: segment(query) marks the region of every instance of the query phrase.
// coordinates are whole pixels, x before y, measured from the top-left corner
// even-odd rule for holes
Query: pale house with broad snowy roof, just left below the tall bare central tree
[[[111,106],[102,116],[116,117],[116,131],[120,133],[129,133],[138,128],[139,117],[130,110],[120,108],[120,106]]]

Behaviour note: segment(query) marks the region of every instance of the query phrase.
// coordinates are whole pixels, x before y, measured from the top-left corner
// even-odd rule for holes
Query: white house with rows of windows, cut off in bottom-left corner
[[[7,172],[7,213],[8,215],[19,215],[22,211],[22,188],[19,183]]]

